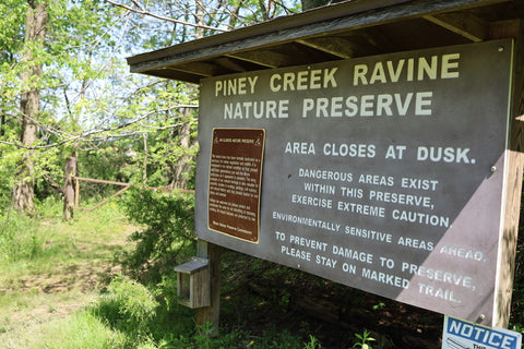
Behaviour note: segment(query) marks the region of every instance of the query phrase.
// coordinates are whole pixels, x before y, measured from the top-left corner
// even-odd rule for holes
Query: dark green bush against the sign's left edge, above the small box
[[[194,251],[193,210],[191,195],[133,190],[126,200],[126,213],[144,229],[130,237],[136,246],[120,257],[124,269],[153,282],[174,274],[172,266]]]

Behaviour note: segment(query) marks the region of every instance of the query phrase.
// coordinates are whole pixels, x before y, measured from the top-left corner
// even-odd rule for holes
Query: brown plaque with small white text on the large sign
[[[259,241],[264,130],[214,129],[210,164],[209,227]]]

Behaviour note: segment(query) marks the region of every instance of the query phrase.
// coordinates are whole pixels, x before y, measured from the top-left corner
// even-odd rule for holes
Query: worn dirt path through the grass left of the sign
[[[67,321],[93,303],[120,272],[114,264],[115,253],[129,248],[127,238],[136,229],[124,224],[107,232],[85,232],[76,225],[41,225],[51,231],[45,249],[53,253],[15,262],[0,277],[2,349],[26,349],[28,334],[38,336],[46,324]],[[62,229],[69,231],[56,233]]]

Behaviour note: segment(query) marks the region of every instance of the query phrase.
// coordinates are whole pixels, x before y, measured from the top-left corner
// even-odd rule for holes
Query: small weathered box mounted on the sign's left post
[[[178,302],[191,309],[210,306],[209,260],[192,257],[190,262],[176,266],[175,272],[177,272]]]

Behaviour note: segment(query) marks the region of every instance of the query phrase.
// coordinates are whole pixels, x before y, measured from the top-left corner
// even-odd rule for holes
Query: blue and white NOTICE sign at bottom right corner
[[[522,334],[444,317],[442,349],[521,349]]]

